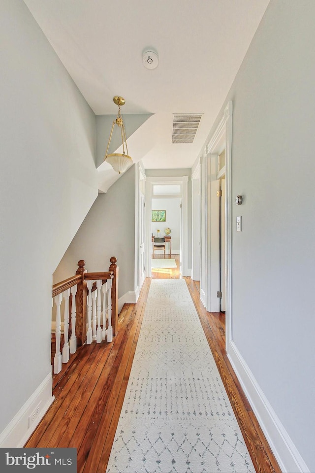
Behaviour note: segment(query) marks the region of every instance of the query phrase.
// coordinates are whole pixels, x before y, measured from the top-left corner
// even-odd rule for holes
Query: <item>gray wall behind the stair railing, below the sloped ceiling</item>
[[[119,297],[134,291],[135,165],[99,194],[54,273],[54,283],[75,274],[85,260],[88,271],[107,271],[111,256],[119,265]]]

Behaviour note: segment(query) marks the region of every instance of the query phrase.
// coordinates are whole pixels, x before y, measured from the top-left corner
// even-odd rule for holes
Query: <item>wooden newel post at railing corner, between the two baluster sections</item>
[[[87,339],[87,282],[84,280],[84,273],[87,272],[85,269],[85,261],[78,261],[78,269],[76,274],[81,274],[81,282],[78,283],[77,293],[75,296],[76,304],[76,324],[75,324],[75,335],[77,338],[77,345],[81,346],[86,342]]]

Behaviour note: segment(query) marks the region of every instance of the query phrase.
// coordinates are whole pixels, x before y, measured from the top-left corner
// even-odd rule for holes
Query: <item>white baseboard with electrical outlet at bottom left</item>
[[[49,373],[0,434],[1,448],[23,447],[25,445],[55,399],[55,396],[52,396],[52,386],[53,378]],[[39,412],[29,426],[29,417],[37,407]]]

